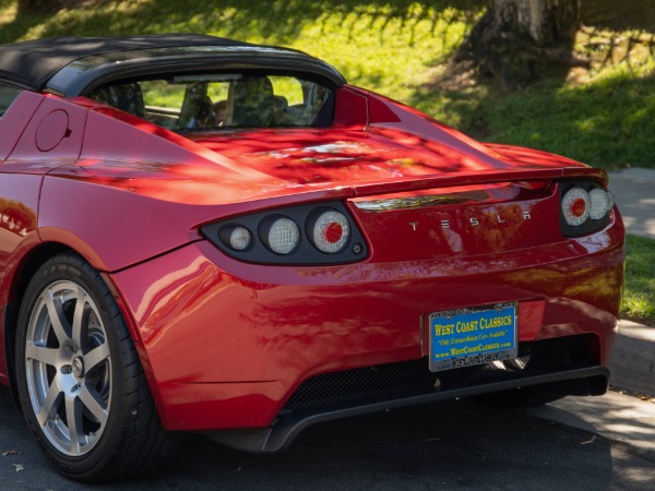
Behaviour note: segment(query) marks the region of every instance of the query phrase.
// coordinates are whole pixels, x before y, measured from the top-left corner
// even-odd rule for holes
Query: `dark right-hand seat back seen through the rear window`
[[[276,124],[273,84],[265,76],[230,82],[224,125],[271,128]]]

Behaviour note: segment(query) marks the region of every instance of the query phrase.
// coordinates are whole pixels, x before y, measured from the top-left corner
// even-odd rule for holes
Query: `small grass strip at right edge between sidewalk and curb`
[[[655,240],[628,236],[623,315],[655,326]]]

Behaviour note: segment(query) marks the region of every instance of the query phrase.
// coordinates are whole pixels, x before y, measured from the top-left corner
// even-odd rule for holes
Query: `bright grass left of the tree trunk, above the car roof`
[[[0,12],[15,1],[0,0]],[[481,2],[284,0],[91,2],[50,17],[0,16],[0,41],[46,36],[199,32],[289,46],[325,59],[348,80],[408,99],[481,13]],[[477,5],[477,7],[476,7]],[[1,14],[0,14],[1,15]]]

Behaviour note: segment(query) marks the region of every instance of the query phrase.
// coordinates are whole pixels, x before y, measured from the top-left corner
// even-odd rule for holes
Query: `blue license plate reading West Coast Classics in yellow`
[[[430,371],[516,358],[516,302],[430,314]]]

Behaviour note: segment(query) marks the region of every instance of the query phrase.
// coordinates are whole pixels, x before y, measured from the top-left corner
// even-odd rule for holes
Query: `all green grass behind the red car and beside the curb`
[[[483,140],[538,147],[605,168],[653,168],[655,5],[612,1],[583,2],[586,26],[575,50],[593,58],[591,70],[553,73],[514,93],[493,84],[436,88],[445,61],[481,15],[484,0],[70,0],[71,7],[55,15],[21,19],[15,0],[0,0],[0,43],[203,32],[290,46],[330,61],[356,85],[417,106]],[[624,310],[655,325],[655,280],[644,264],[655,264],[655,242],[631,238]]]

